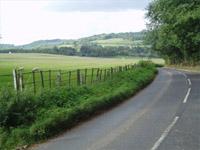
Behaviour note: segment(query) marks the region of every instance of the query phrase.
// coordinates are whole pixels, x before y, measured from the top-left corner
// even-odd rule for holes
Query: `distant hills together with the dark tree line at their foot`
[[[158,57],[144,44],[145,32],[99,34],[77,40],[39,40],[30,44],[0,45],[0,53],[48,53],[88,57]]]

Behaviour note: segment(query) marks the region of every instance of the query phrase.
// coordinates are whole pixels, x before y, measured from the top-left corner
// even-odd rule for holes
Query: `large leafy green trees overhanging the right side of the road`
[[[155,0],[147,17],[147,40],[168,63],[200,63],[199,0]]]

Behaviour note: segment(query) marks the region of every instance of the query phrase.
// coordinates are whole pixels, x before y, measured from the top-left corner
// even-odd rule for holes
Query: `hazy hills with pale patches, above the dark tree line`
[[[52,39],[39,40],[30,44],[14,46],[10,44],[0,44],[0,50],[7,49],[41,49],[53,47],[73,47],[80,48],[84,44],[97,44],[101,46],[137,46],[141,45],[144,38],[144,32],[127,32],[99,34],[90,37],[80,38],[78,40]]]

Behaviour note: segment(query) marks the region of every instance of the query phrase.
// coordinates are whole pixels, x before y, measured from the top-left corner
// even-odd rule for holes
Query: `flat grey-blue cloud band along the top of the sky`
[[[150,1],[151,0],[57,0],[51,1],[47,9],[59,12],[144,10]]]

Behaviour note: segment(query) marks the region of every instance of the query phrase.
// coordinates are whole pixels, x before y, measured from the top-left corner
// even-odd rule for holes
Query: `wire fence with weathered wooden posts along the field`
[[[59,86],[77,87],[91,85],[112,79],[119,72],[137,67],[134,65],[117,66],[110,68],[90,68],[77,70],[41,70],[34,68],[30,72],[24,72],[23,68],[13,69],[12,74],[0,75],[0,79],[13,87],[16,91],[32,89],[34,93],[45,88]]]

